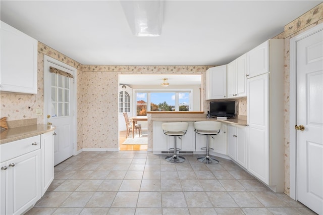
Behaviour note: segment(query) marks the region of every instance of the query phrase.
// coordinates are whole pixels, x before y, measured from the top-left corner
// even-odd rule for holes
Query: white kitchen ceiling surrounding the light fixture
[[[1,20],[83,65],[221,65],[321,1],[167,1],[158,37],[131,34],[119,1],[4,1]]]

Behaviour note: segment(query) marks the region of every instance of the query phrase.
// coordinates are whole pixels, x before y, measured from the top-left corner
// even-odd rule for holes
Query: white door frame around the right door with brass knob
[[[290,86],[289,86],[289,142],[290,142],[290,197],[297,200],[297,147],[296,147],[296,43],[320,31],[323,23],[290,39]]]

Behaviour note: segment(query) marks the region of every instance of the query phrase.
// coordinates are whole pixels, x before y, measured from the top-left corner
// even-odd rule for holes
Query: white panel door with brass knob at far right
[[[323,31],[297,41],[297,199],[323,214]],[[303,130],[303,131],[302,131]]]

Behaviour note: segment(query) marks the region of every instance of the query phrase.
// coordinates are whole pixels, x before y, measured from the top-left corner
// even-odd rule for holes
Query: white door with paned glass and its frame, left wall
[[[74,78],[50,73],[49,67],[71,73]],[[44,63],[47,123],[56,126],[54,137],[54,165],[58,165],[73,155],[76,147],[76,130],[74,130],[75,94],[74,79],[76,69],[46,56]]]

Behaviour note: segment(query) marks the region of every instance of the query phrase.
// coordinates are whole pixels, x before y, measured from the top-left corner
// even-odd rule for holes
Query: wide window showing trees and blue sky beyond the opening
[[[168,92],[136,90],[135,93],[137,116],[146,116],[147,111],[190,111],[192,109],[192,90]]]

